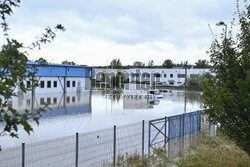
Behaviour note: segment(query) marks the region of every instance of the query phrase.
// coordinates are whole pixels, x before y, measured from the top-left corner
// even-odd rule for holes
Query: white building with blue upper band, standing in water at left
[[[52,63],[41,64],[31,61],[27,64],[29,71],[36,72],[35,79],[39,84],[32,89],[32,93],[66,93],[91,90],[91,67]],[[27,88],[34,85],[29,78],[22,84]],[[15,91],[21,91],[20,85]]]

